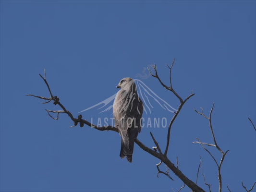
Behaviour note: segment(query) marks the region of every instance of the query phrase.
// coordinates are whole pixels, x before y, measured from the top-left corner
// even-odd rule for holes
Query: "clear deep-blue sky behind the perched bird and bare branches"
[[[39,77],[47,70],[54,95],[74,115],[116,93],[123,77],[134,78],[156,63],[168,84],[166,64],[176,58],[173,87],[185,98],[173,124],[168,156],[195,181],[199,156],[207,182],[217,191],[217,169],[198,137],[213,143],[208,114],[223,150],[223,191],[242,191],[256,181],[256,1],[0,1],[0,191],[177,191],[183,183],[164,175],[159,162],[137,145],[133,163],[119,157],[116,132],[69,128],[67,115],[52,120],[53,104],[26,97],[49,96]],[[143,82],[172,107],[178,100],[150,77]],[[172,113],[154,106],[158,117]],[[85,111],[85,119],[97,114]],[[145,116],[146,117],[146,116]],[[144,128],[138,139],[162,148],[164,128]],[[218,152],[213,153],[220,158]],[[164,167],[162,167],[164,169]],[[202,176],[199,185],[207,190]],[[188,188],[184,192],[190,191]]]

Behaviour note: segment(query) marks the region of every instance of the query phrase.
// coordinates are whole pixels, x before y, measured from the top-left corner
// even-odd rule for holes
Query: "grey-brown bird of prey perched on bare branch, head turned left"
[[[123,78],[117,85],[120,88],[113,104],[115,127],[118,129],[122,141],[120,157],[126,156],[132,162],[134,139],[141,131],[143,102],[137,94],[137,87],[132,78]]]

